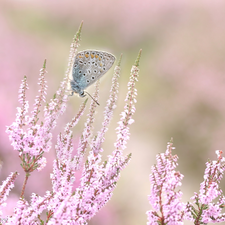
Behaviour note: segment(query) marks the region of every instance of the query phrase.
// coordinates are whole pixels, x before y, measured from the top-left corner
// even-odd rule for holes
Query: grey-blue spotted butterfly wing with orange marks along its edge
[[[73,65],[73,80],[84,90],[89,85],[102,77],[115,62],[115,56],[95,50],[85,50],[79,52]]]

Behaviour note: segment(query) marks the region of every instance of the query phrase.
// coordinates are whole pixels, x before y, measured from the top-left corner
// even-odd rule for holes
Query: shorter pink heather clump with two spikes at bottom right
[[[182,192],[178,190],[184,177],[176,171],[177,155],[172,155],[172,141],[165,153],[156,156],[157,164],[152,166],[150,175],[151,194],[149,203],[152,210],[147,212],[148,225],[181,225],[184,220],[195,225],[219,223],[225,221],[225,197],[219,187],[225,171],[225,158],[217,150],[217,160],[208,161],[204,181],[200,184],[199,193],[194,193],[193,202],[182,202]]]

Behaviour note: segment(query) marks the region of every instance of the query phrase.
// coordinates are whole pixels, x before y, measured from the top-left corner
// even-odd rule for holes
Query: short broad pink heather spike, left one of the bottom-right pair
[[[151,169],[149,203],[153,210],[147,212],[148,225],[183,224],[185,205],[181,202],[182,192],[176,191],[183,175],[175,171],[178,157],[172,155],[172,149],[169,142],[166,152],[156,156],[157,164]]]

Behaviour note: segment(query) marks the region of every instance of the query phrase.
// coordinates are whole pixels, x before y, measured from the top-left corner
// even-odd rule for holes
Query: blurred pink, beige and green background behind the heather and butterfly
[[[24,178],[18,153],[5,133],[16,114],[18,89],[28,77],[30,105],[37,95],[39,70],[47,59],[47,99],[64,77],[73,35],[84,21],[80,50],[100,49],[117,58],[123,53],[118,107],[104,143],[104,158],[114,149],[115,128],[124,106],[127,82],[140,48],[138,102],[125,154],[132,160],[122,172],[110,202],[91,225],[146,224],[151,209],[149,174],[155,155],[164,152],[173,137],[181,187],[188,201],[199,190],[205,162],[225,150],[225,2],[222,0],[1,0],[0,1],[0,159],[1,180],[19,171],[8,204],[13,208]],[[100,85],[100,106],[95,120],[101,127],[102,112],[111,84],[112,70]],[[89,92],[93,92],[90,87]],[[56,135],[78,111],[83,99],[73,97],[54,131]],[[77,143],[86,116],[74,128]],[[50,189],[49,173],[54,148],[46,154],[48,166],[34,172],[26,197]],[[225,182],[221,184],[225,188]],[[10,210],[9,212],[10,213]],[[186,222],[185,224],[189,224]]]

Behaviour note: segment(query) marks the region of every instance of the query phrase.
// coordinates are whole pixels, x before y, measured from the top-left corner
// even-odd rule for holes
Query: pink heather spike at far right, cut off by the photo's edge
[[[204,181],[200,184],[199,194],[191,198],[193,203],[187,203],[186,218],[194,224],[220,223],[225,221],[225,197],[220,181],[225,171],[225,158],[222,151],[216,151],[217,161],[208,161]]]

